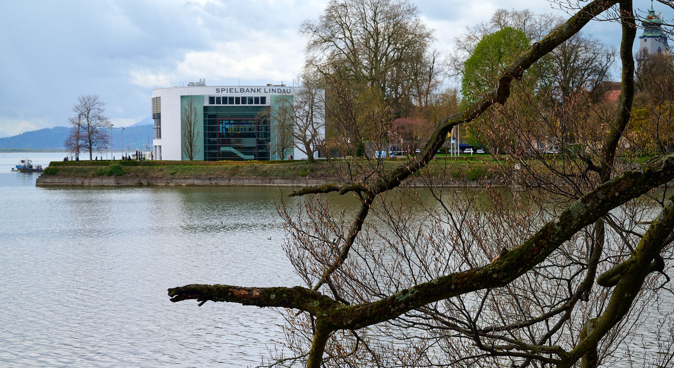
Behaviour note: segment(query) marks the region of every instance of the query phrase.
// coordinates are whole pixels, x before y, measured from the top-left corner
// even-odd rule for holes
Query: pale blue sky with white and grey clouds
[[[150,116],[152,88],[286,82],[303,62],[303,20],[323,0],[5,1],[0,13],[0,137],[66,125],[80,94],[98,94],[116,126]],[[566,13],[546,0],[411,0],[448,52],[498,8]],[[636,0],[638,9],[650,1]],[[655,5],[663,18],[671,9]],[[586,32],[619,45],[619,26]]]

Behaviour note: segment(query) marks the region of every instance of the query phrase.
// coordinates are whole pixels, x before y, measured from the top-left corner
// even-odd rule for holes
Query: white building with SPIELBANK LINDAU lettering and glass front
[[[274,153],[279,139],[276,125],[299,90],[284,84],[206,86],[205,80],[152,90],[154,158],[189,159],[183,152],[189,119],[196,120],[195,160],[282,160],[290,152],[296,160],[307,158],[297,148],[286,151],[286,157]],[[325,136],[324,129],[319,135]]]

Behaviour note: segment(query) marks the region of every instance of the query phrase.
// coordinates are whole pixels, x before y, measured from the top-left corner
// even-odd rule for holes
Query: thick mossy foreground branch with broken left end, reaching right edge
[[[654,158],[590,191],[557,218],[545,224],[520,247],[501,255],[491,264],[441,276],[373,303],[346,306],[301,286],[242,288],[228,285],[187,285],[169,289],[168,295],[173,297],[172,301],[228,301],[258,307],[299,309],[321,316],[324,330],[357,330],[388,321],[435,301],[485,288],[505,286],[531,270],[562,243],[571,239],[572,235],[605,216],[613,208],[673,179],[674,154]],[[669,233],[663,241],[667,235]],[[647,267],[644,272],[645,270]]]

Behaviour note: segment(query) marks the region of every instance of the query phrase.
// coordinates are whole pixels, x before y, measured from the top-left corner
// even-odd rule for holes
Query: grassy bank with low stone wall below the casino
[[[401,160],[382,162],[386,171]],[[423,177],[410,177],[405,185],[425,186],[425,177],[440,177],[453,187],[477,186],[493,181],[485,175],[484,162],[456,160],[450,169],[437,164]],[[142,187],[142,186],[266,186],[303,187],[340,181],[334,167],[326,162],[301,160],[283,162],[243,161],[68,161],[51,162],[36,180],[36,187]]]

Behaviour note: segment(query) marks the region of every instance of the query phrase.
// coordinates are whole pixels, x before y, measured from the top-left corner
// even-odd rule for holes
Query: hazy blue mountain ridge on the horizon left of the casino
[[[149,119],[149,118],[148,118]],[[129,127],[125,127],[123,138],[124,146],[129,146],[129,149],[145,148],[145,145],[152,146],[152,138],[154,137],[154,125],[143,123],[148,121],[143,119]],[[152,119],[149,119],[152,121]],[[115,150],[121,148],[122,144],[122,128],[113,128],[113,146]],[[53,127],[44,128],[34,131],[25,131],[19,135],[12,137],[0,138],[0,150],[8,148],[24,148],[26,150],[63,150],[63,142],[67,137],[70,128],[68,127]]]

